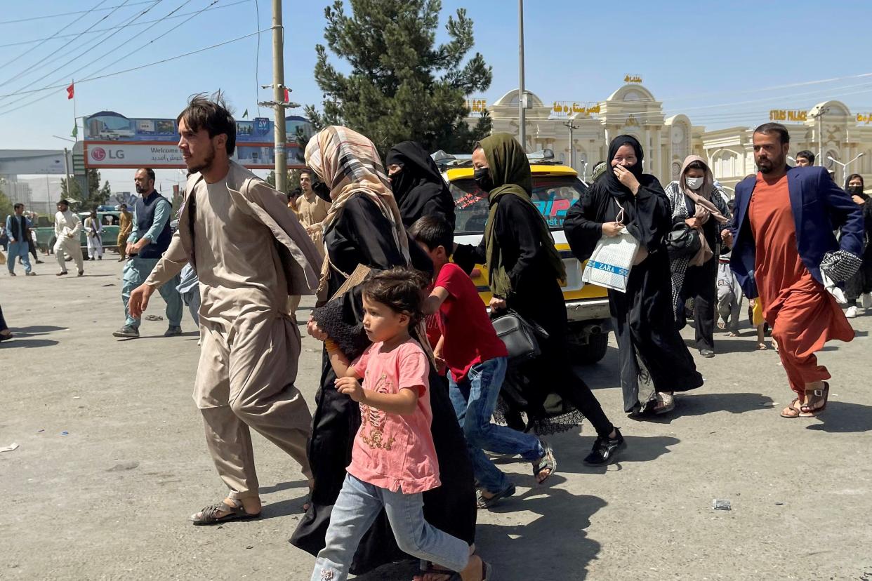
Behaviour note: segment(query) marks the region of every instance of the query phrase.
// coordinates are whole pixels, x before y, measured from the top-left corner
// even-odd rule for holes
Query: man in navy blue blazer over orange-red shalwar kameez
[[[788,167],[789,148],[784,125],[766,123],[754,130],[760,172],[736,186],[735,223],[724,238],[732,243],[732,271],[746,296],[762,301],[773,329],[797,395],[781,415],[794,418],[814,416],[827,405],[825,380],[831,375],[814,352],[829,339],[854,338],[823,274],[841,282],[860,263],[863,219],[860,206],[824,168]]]

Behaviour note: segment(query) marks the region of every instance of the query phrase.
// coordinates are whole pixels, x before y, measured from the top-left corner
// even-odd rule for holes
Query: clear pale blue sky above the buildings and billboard
[[[315,46],[324,44],[328,3],[332,0],[283,2],[285,84],[297,103],[317,105],[322,99],[313,69]],[[768,120],[771,109],[808,109],[831,98],[851,111],[872,111],[872,74],[861,77],[872,72],[868,0],[835,0],[826,7],[806,0],[525,4],[525,85],[545,103],[603,100],[632,74],[663,101],[667,115],[683,112],[707,129],[756,125]],[[256,105],[271,98],[269,90],[260,89],[272,79],[270,0],[0,0],[0,5],[0,95],[124,71],[265,30],[77,83],[76,113],[175,118],[188,96],[221,89],[237,117],[246,109],[250,118],[271,117]],[[345,6],[351,12],[351,2]],[[98,10],[69,14],[92,8]],[[493,103],[518,86],[517,2],[444,0],[437,41],[446,40],[447,17],[459,8],[466,8],[474,23],[470,55],[480,52],[493,67],[490,90],[477,96]],[[133,24],[99,31],[126,24],[146,9]],[[167,18],[170,12],[187,16]],[[61,37],[71,34],[78,36]],[[335,56],[331,62],[343,68]],[[72,120],[72,101],[62,87],[0,97],[0,149],[72,145],[53,137],[69,138]],[[133,189],[133,170],[101,173],[113,190]],[[179,179],[178,172],[158,172],[164,193]]]

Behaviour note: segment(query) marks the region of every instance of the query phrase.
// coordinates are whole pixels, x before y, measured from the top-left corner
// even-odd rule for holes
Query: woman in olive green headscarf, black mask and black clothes
[[[540,340],[542,355],[522,368],[531,383],[541,386],[535,394],[538,402],[530,403],[541,408],[552,392],[572,403],[598,436],[585,463],[610,463],[623,446],[623,436],[569,367],[566,307],[559,282],[566,271],[545,219],[530,200],[533,179],[527,156],[511,135],[495,133],[475,145],[473,167],[475,182],[488,193],[487,226],[481,244],[458,247],[454,261],[467,272],[477,263],[487,264],[494,294],[491,308],[511,308],[548,332],[548,339]]]

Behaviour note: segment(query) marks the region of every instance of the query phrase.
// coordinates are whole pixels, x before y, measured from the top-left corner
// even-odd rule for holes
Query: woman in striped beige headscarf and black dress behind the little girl
[[[326,256],[318,296],[333,296],[358,265],[386,270],[411,265],[409,241],[390,183],[369,138],[342,126],[318,132],[306,146],[306,165],[330,190],[330,213],[322,222]],[[362,321],[358,309],[355,316]],[[326,334],[313,320],[309,332],[318,339]],[[348,354],[346,354],[348,355]],[[337,391],[336,374],[324,351],[321,387],[316,396],[309,443],[309,460],[315,486],[303,520],[290,541],[313,555],[324,548],[330,509],[336,502],[351,462],[351,445],[360,424],[358,403]],[[431,376],[434,375],[431,369]],[[442,485],[424,493],[427,522],[472,545],[475,534],[475,490],[466,443],[447,391],[431,381],[433,441]],[[376,519],[361,542],[351,572],[359,575],[381,564],[404,558],[393,538],[385,513]]]

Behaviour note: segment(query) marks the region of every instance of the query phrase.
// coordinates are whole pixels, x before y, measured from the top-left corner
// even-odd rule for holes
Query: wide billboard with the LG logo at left
[[[175,119],[126,118],[114,111],[100,111],[83,120],[85,166],[123,168],[148,166],[156,169],[184,169],[179,151]],[[289,167],[303,167],[303,151],[296,144],[296,128],[310,135],[311,125],[303,118],[289,118],[289,143],[285,151]],[[236,121],[236,151],[233,159],[249,169],[273,169],[276,152],[274,124],[269,118]]]

